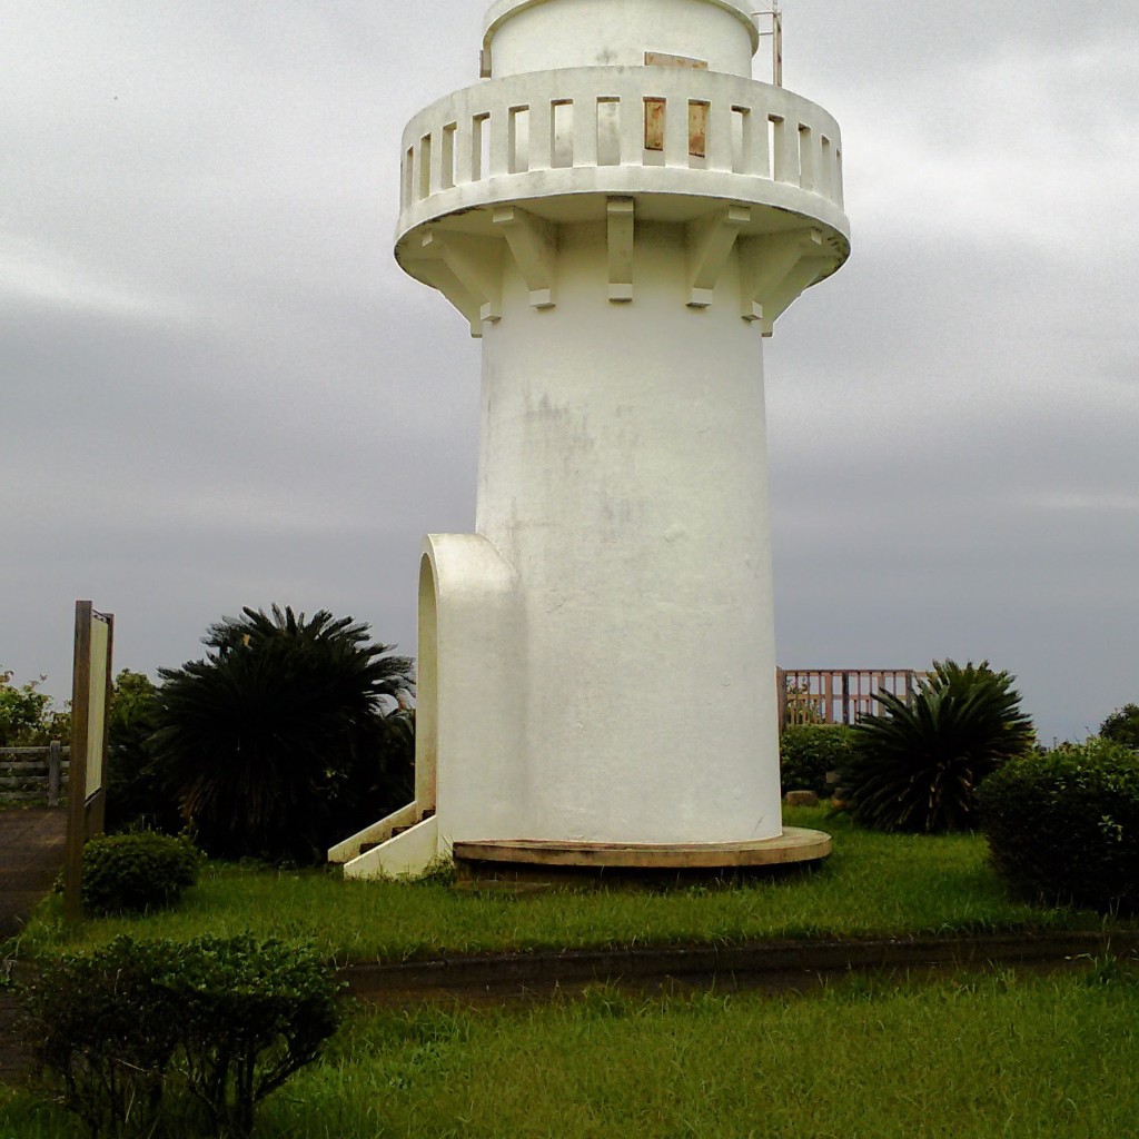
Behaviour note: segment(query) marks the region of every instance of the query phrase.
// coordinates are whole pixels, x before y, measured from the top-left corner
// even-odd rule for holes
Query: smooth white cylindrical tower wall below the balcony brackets
[[[682,227],[562,227],[557,305],[513,265],[484,326],[476,530],[525,605],[526,837],[780,833],[761,337],[739,265],[687,308]]]

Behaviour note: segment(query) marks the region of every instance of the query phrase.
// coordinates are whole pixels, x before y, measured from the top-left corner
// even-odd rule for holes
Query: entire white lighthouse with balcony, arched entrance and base
[[[404,131],[395,255],[482,337],[478,493],[423,556],[416,802],[349,875],[829,850],[781,825],[761,337],[847,256],[842,147],[759,44],[737,0],[498,0]]]

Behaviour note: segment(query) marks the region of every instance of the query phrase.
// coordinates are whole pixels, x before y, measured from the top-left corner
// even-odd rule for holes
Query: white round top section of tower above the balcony
[[[751,77],[760,42],[737,0],[497,0],[484,23],[483,73],[494,79],[665,57]]]

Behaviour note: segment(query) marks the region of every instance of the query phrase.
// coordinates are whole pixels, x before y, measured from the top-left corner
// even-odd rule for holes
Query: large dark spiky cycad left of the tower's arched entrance
[[[319,860],[411,797],[412,663],[351,617],[243,613],[162,670],[150,746],[210,854]]]

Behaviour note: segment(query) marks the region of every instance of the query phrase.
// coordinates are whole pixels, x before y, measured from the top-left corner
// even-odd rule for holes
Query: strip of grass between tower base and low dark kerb
[[[1092,913],[1011,900],[974,835],[902,836],[858,830],[822,809],[789,825],[830,830],[834,854],[817,870],[740,888],[693,886],[472,894],[440,883],[345,882],[325,871],[265,872],[213,866],[182,904],[145,918],[84,921],[65,931],[58,903],[41,908],[19,952],[57,952],[116,933],[190,937],[253,929],[309,940],[339,962],[439,954],[741,943],[780,937],[1097,928]]]

